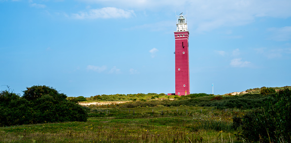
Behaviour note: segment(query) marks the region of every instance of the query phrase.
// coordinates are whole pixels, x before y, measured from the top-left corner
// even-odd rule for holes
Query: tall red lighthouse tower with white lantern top
[[[189,31],[187,19],[180,14],[177,19],[177,31],[175,35],[175,94],[190,94],[189,74]]]

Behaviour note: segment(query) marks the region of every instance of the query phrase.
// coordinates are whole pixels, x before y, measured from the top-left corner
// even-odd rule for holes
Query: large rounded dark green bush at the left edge
[[[0,92],[0,126],[87,120],[83,107],[52,87],[32,86],[23,92],[23,97]]]

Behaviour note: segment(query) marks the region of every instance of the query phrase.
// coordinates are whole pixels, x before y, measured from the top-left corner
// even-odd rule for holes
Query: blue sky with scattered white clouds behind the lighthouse
[[[291,0],[0,0],[0,90],[175,93],[176,15],[190,92],[291,86]]]

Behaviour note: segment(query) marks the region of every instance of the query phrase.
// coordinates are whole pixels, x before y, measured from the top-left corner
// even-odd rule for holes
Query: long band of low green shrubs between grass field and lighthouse
[[[179,107],[179,106],[190,106],[190,107],[213,107],[218,109],[227,108],[239,108],[239,109],[254,109],[263,106],[263,103],[270,98],[275,101],[275,94],[261,95],[261,94],[243,94],[241,96],[203,96],[196,98],[179,97],[176,100],[141,100],[132,101],[123,104],[111,104],[111,105],[91,105],[100,108],[137,108],[137,107]],[[184,99],[183,99],[184,98]],[[186,98],[186,99],[185,99]]]

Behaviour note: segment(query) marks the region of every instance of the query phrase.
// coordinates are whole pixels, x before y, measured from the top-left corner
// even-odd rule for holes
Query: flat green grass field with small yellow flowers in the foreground
[[[178,112],[177,112],[178,109]],[[154,112],[153,112],[154,110]],[[94,109],[87,122],[0,128],[1,143],[235,143],[239,110],[201,107]],[[134,111],[134,115],[133,115]],[[163,111],[163,114],[162,114]],[[202,112],[201,112],[202,111]],[[110,112],[110,114],[109,114]]]

